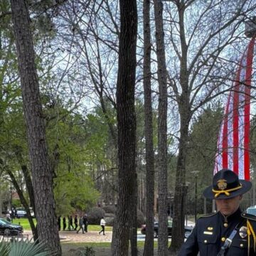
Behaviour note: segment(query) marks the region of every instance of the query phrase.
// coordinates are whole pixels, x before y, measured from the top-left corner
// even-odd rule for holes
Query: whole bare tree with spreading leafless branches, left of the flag
[[[206,102],[232,89],[233,52],[238,52],[242,43],[241,22],[255,7],[255,2],[246,0],[232,4],[225,0],[166,2],[166,45],[171,47],[169,97],[171,103],[176,102],[179,117],[172,252],[178,251],[183,243],[191,117]]]

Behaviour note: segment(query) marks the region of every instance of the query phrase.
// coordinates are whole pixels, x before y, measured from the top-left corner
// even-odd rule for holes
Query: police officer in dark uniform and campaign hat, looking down
[[[239,207],[242,194],[251,187],[233,171],[218,171],[213,185],[203,191],[203,196],[215,200],[218,211],[198,219],[179,256],[256,255],[256,216],[242,213]]]

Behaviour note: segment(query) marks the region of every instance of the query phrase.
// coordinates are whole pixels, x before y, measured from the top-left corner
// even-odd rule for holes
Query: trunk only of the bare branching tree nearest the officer
[[[177,252],[184,242],[184,220],[185,210],[183,208],[186,196],[186,155],[188,144],[188,125],[191,119],[190,106],[190,90],[188,87],[188,46],[186,44],[185,28],[184,28],[184,9],[178,12],[180,26],[181,41],[181,96],[178,97],[178,112],[180,116],[181,128],[180,139],[178,144],[178,159],[176,166],[176,183],[174,193],[174,217],[173,217],[173,233],[171,238],[171,252]]]

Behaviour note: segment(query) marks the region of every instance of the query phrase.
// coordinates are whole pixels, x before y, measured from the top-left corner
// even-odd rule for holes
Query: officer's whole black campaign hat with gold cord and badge
[[[234,171],[222,169],[213,176],[213,185],[203,191],[208,199],[228,199],[242,195],[250,190],[250,181],[240,180]]]

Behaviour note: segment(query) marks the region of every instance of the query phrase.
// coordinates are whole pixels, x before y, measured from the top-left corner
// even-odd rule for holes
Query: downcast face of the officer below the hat
[[[215,202],[220,213],[228,216],[238,210],[241,199],[242,196],[235,196],[228,199],[215,199]]]

